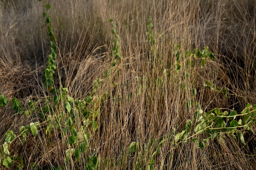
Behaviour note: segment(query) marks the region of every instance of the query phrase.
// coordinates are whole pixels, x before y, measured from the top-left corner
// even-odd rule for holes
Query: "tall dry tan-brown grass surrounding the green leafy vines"
[[[109,96],[100,109],[99,129],[91,132],[89,155],[96,153],[101,161],[108,158],[118,162],[123,151],[129,155],[132,141],[146,147],[151,139],[163,137],[166,140],[155,157],[155,169],[256,169],[255,156],[248,156],[255,155],[253,134],[246,135],[246,146],[227,135],[211,140],[204,149],[193,142],[173,145],[166,137],[173,133],[176,124],[181,130],[186,120],[193,118],[196,108],[186,107],[186,101],[193,98],[191,88],[197,89],[195,100],[204,110],[219,107],[239,112],[248,102],[256,103],[254,1],[54,0],[49,3],[59,47],[56,88],[68,87],[74,99],[86,97],[93,89],[93,81],[98,77],[103,79],[103,73],[109,68],[113,40],[110,18],[114,19],[120,36],[123,60],[115,66],[120,72],[119,75],[113,72],[98,89],[98,94]],[[0,94],[8,100],[16,97],[24,105],[35,99],[40,107],[43,107],[44,96],[50,95],[41,82],[49,54],[43,10],[44,2],[0,2]],[[156,37],[153,54],[146,41],[147,16],[153,19]],[[184,67],[176,73],[173,53],[176,45],[181,46],[182,54],[209,46],[216,60],[209,60],[204,68],[196,65],[188,70],[183,55]],[[165,69],[170,70],[169,76],[164,75]],[[190,73],[186,79],[185,72]],[[158,77],[163,77],[162,84],[155,83]],[[205,88],[206,80],[229,88],[227,99]],[[184,90],[180,88],[182,84],[186,84]],[[54,110],[53,114],[61,112],[63,110]],[[11,104],[0,111],[0,116],[1,144],[8,130],[18,133],[21,125],[42,122],[37,114],[29,118],[12,115]],[[80,121],[76,120],[77,129]],[[41,123],[40,128],[44,125]],[[22,156],[28,169],[31,162],[42,169],[65,165],[68,147],[65,139],[58,135],[58,130],[48,136],[41,130],[37,137],[29,136],[24,145],[15,140],[9,150]],[[146,169],[153,154],[152,148],[146,149],[142,169]],[[135,169],[135,160],[124,156],[120,164],[109,169]],[[83,169],[86,161],[80,161],[79,168]],[[65,166],[78,168],[74,163]]]

